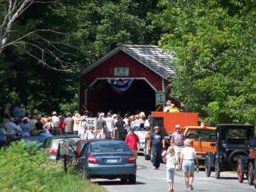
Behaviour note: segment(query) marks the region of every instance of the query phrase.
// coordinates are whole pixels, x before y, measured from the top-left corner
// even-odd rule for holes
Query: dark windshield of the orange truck
[[[214,129],[188,129],[186,134],[188,139],[206,139],[216,141],[216,131]]]

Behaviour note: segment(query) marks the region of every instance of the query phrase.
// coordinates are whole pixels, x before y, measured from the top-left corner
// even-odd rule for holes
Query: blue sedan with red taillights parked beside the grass
[[[92,140],[82,149],[78,165],[83,178],[121,178],[136,183],[136,157],[129,146],[117,140]]]

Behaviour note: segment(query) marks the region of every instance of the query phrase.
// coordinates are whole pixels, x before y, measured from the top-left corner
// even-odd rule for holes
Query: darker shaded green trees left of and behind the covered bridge
[[[8,3],[3,2],[1,10]],[[51,3],[31,4],[17,18],[13,28],[18,33],[14,31],[9,39],[29,31],[37,33],[23,38],[22,46],[10,45],[1,54],[1,105],[11,101],[24,102],[31,111],[68,109],[67,103],[73,102],[78,91],[81,70],[120,44],[156,44],[159,40],[158,29],[146,20],[157,1],[43,2]],[[47,54],[51,51],[56,57]]]

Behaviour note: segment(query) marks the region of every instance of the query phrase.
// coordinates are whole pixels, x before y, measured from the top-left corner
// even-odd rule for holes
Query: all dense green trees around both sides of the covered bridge
[[[4,10],[7,1],[0,2]],[[14,23],[9,39],[29,31],[59,31],[33,33],[24,41],[50,50],[55,46],[63,53],[58,54],[63,63],[50,56],[43,63],[38,59],[41,51],[28,44],[9,46],[0,57],[1,104],[11,100],[25,102],[31,110],[68,109],[81,70],[120,44],[159,43],[176,57],[170,64],[176,78],[169,87],[184,108],[200,112],[210,122],[254,124],[255,4],[238,0],[32,4]]]

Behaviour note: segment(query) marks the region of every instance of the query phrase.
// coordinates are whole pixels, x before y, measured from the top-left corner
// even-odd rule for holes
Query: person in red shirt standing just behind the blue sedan
[[[128,144],[129,148],[132,151],[132,154],[134,154],[137,159],[140,145],[139,145],[139,137],[137,134],[134,134],[134,129],[131,129],[129,134],[127,134],[127,137],[125,137],[125,142]]]

